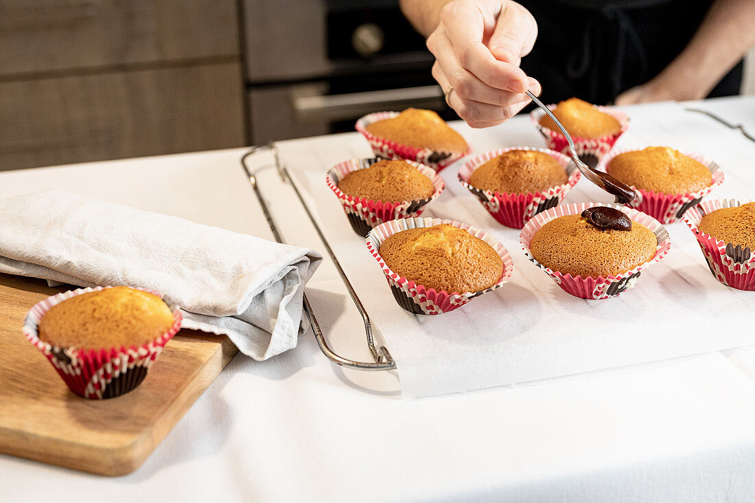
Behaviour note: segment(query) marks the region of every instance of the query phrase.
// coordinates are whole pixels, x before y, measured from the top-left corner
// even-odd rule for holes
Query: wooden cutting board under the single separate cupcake
[[[136,470],[236,354],[227,337],[182,330],[136,390],[75,396],[21,333],[26,312],[70,287],[0,274],[0,452],[93,474]]]

